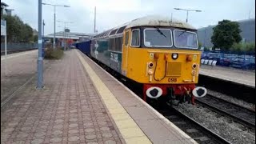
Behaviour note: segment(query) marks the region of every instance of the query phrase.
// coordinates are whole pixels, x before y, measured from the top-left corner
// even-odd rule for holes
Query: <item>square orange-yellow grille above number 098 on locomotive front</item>
[[[167,62],[166,76],[181,76],[182,62]]]

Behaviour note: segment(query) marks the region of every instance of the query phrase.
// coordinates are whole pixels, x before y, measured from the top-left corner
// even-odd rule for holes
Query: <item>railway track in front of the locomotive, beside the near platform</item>
[[[158,108],[155,109],[158,110]],[[158,110],[158,112],[168,118],[170,122],[173,122],[174,125],[186,132],[186,134],[190,135],[190,137],[199,144],[231,143],[226,141],[225,138],[222,138],[218,134],[215,134],[213,131],[207,129],[205,126],[202,126],[200,123],[194,121],[194,119],[190,118],[186,114],[183,114],[175,107]]]

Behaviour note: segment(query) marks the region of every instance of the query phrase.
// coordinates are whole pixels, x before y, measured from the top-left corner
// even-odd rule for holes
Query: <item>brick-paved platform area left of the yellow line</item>
[[[1,143],[125,143],[73,50],[1,109]]]

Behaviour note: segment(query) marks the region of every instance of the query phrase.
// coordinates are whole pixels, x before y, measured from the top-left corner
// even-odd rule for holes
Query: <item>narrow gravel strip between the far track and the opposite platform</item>
[[[233,102],[235,104],[238,104],[239,106],[243,106],[247,109],[255,111],[255,104],[254,103],[245,102],[245,101],[242,101],[241,99],[233,98],[229,95],[218,93],[218,92],[213,91],[213,90],[207,90],[207,93],[213,95],[214,97],[222,98],[222,99],[224,99],[228,102]]]

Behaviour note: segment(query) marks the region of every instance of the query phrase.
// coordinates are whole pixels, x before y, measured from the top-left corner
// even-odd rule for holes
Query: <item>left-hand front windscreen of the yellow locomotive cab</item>
[[[173,46],[170,29],[146,28],[144,30],[144,45],[147,47]]]

